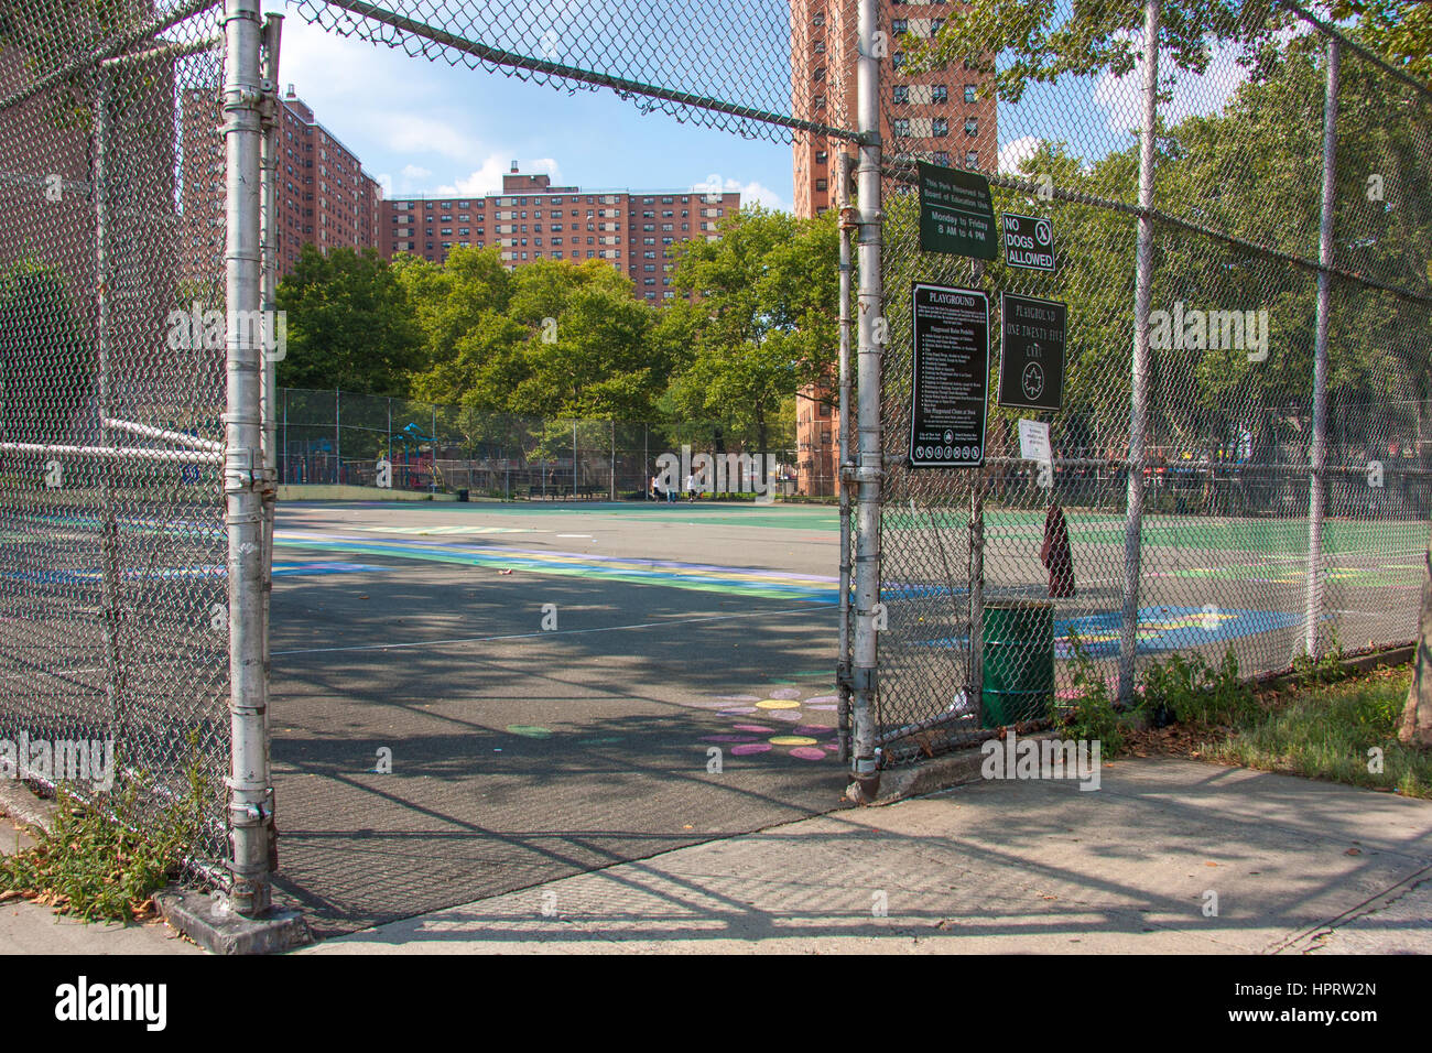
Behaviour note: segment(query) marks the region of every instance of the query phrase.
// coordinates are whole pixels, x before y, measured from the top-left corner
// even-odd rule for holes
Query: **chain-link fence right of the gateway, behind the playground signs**
[[[1133,50],[1123,76],[1030,83],[1014,100],[972,105],[965,128],[895,117],[882,129],[888,628],[878,721],[886,762],[977,734],[977,702],[994,709],[985,725],[1048,715],[1038,699],[1051,691],[1067,705],[1081,691],[1074,648],[1085,670],[1110,682],[1117,673],[1143,106],[1141,6],[1124,7]],[[1071,24],[1074,6],[1057,9],[1051,24]],[[882,13],[896,50],[915,50],[929,33],[916,16],[906,6]],[[1232,648],[1249,675],[1286,668],[1303,650],[1327,36],[1287,10],[1263,29],[1253,47],[1237,32],[1199,47],[1181,39],[1181,26],[1166,27],[1160,50],[1140,670],[1173,650],[1217,665]],[[988,54],[968,57],[990,67]],[[1021,62],[1012,53],[992,60],[1000,90],[1018,80]],[[886,112],[901,113],[921,83],[984,100],[991,80],[968,69],[882,69]],[[1432,105],[1350,47],[1337,97],[1316,580],[1323,646],[1336,639],[1352,649],[1415,633],[1416,556],[1432,513]],[[945,132],[958,145],[928,149],[944,146],[931,135]],[[997,218],[1051,219],[1055,272],[1012,268],[1002,252],[988,264],[921,252],[912,160],[981,170]],[[982,470],[906,467],[915,281],[990,297]],[[1001,292],[1068,305],[1058,413],[995,405]],[[1020,460],[1020,417],[1051,425],[1047,484]],[[982,553],[971,547],[975,490]],[[1071,593],[1055,587],[1044,560],[1045,543],[1060,543],[1051,506],[1067,520]],[[977,660],[982,699],[969,698]]]

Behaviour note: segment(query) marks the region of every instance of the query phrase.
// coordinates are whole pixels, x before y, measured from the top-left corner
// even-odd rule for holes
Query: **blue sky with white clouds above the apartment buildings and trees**
[[[495,192],[517,160],[523,172],[548,172],[560,183],[591,189],[684,189],[709,185],[715,175],[745,201],[792,206],[788,143],[643,115],[607,90],[571,95],[411,57],[309,24],[296,6],[275,0],[269,9],[286,16],[282,85],[294,85],[390,196]],[[783,46],[779,27],[762,24],[768,46]],[[713,60],[707,53],[707,69]],[[1181,79],[1169,116],[1216,110],[1240,80],[1232,54],[1216,54],[1207,76]],[[763,93],[780,90],[769,85]],[[1137,102],[1137,73],[1035,86],[1020,106],[1000,107],[1001,168],[1032,149],[1038,136],[1064,139],[1085,158],[1126,146]]]

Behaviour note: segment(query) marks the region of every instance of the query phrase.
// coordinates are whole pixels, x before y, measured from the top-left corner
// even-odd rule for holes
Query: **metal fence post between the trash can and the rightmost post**
[[[1128,393],[1128,503],[1124,519],[1124,612],[1118,643],[1118,698],[1134,696],[1138,656],[1138,573],[1144,521],[1148,430],[1148,307],[1153,299],[1154,133],[1158,122],[1158,0],[1144,3],[1144,117],[1138,143],[1138,242],[1134,277],[1134,360]]]

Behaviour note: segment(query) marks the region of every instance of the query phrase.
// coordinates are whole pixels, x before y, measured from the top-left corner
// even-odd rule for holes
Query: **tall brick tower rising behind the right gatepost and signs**
[[[994,172],[998,166],[995,96],[988,77],[959,67],[904,73],[901,37],[929,39],[958,4],[882,0],[879,29],[891,42],[881,63],[881,140],[886,159]],[[853,0],[790,0],[790,87],[795,116],[828,125],[855,119]],[[798,216],[815,216],[839,202],[839,139],[800,135],[792,148]],[[839,413],[828,394],[796,400],[800,493],[835,493]],[[822,401],[825,398],[826,401]]]

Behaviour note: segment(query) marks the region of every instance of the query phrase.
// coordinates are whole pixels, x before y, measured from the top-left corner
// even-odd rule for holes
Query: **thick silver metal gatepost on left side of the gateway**
[[[245,915],[269,908],[272,788],[268,764],[268,676],[263,660],[263,470],[262,340],[253,340],[261,307],[259,166],[262,87],[259,0],[225,0],[226,43],[223,138],[225,292],[228,351],[225,362],[223,491],[229,570],[229,715],[232,728],[229,827],[233,838],[231,904]]]

